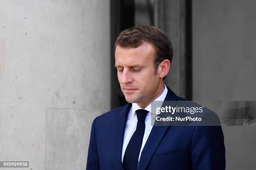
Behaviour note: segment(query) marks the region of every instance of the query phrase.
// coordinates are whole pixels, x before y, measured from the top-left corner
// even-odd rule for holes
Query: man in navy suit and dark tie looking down
[[[120,33],[115,67],[128,104],[93,121],[87,170],[225,169],[221,126],[151,125],[153,101],[184,101],[163,82],[171,61],[171,42],[158,28]]]

